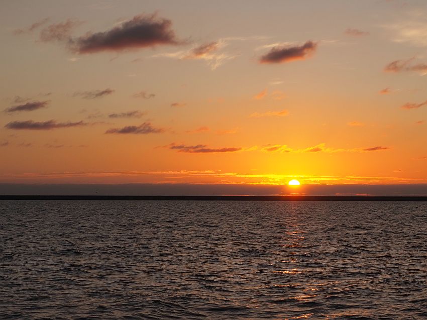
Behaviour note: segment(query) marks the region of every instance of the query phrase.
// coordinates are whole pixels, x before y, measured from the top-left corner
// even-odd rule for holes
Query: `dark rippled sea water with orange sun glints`
[[[2,319],[426,319],[427,203],[0,201]]]

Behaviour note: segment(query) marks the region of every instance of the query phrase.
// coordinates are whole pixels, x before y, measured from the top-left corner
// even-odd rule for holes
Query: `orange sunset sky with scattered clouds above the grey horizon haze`
[[[0,9],[0,183],[427,183],[424,0]]]

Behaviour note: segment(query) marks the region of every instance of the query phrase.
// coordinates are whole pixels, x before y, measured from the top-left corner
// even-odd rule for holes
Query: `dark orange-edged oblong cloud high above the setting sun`
[[[307,41],[302,46],[276,46],[260,58],[260,63],[286,63],[295,60],[305,60],[316,51],[317,44]]]

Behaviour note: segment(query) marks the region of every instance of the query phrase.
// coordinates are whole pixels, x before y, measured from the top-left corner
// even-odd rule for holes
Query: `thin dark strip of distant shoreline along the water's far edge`
[[[156,200],[156,201],[427,201],[427,196],[323,195],[0,195],[0,200]]]

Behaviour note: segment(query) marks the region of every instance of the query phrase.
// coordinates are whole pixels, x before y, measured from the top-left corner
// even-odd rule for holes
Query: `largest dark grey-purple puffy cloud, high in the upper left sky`
[[[171,26],[170,20],[158,18],[155,14],[139,15],[108,31],[71,39],[70,48],[85,54],[179,44]]]

